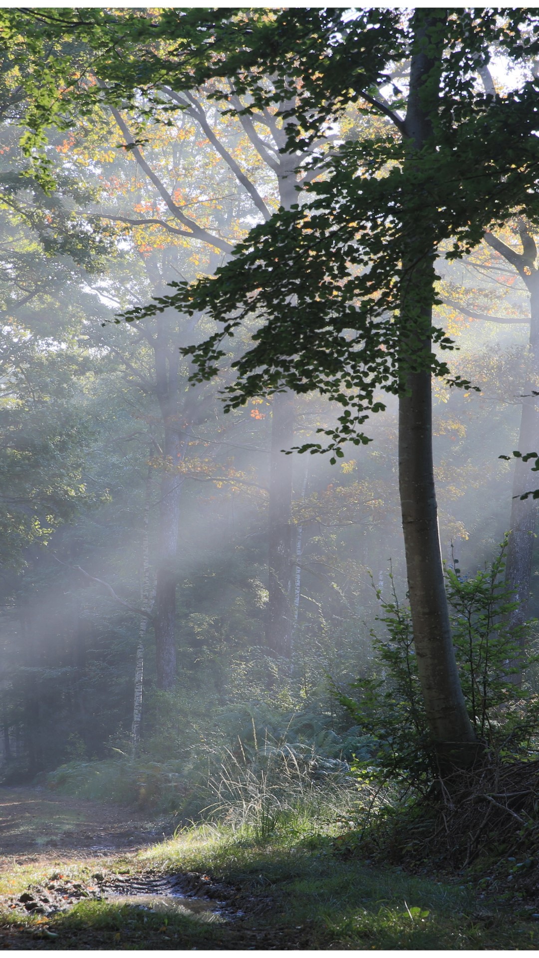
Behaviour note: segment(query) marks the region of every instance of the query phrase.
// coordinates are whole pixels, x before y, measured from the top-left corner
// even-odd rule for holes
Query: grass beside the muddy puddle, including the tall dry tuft
[[[251,755],[228,753],[210,780],[208,817],[137,855],[107,859],[119,874],[210,876],[228,889],[231,921],[84,900],[53,918],[5,916],[0,947],[207,949],[503,949],[539,947],[539,923],[524,908],[487,898],[478,881],[412,876],[365,857],[354,833],[359,795],[346,777],[324,770],[316,783],[307,760],[286,743]],[[348,841],[348,837],[351,841]],[[356,848],[351,855],[350,850]],[[346,854],[342,854],[342,852]],[[50,864],[48,869],[50,871]],[[61,864],[87,880],[103,858]],[[14,894],[47,875],[12,870],[0,892]],[[14,886],[6,887],[6,882]],[[239,915],[242,915],[240,918]],[[34,937],[38,944],[33,946]]]

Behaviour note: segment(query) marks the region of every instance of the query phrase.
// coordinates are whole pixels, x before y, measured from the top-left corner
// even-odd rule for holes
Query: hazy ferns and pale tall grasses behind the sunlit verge
[[[331,721],[315,706],[283,715],[245,703],[223,710],[184,758],[131,761],[115,749],[114,758],[63,764],[43,781],[77,797],[173,812],[183,822],[226,820],[262,840],[277,821],[316,817],[322,806],[342,804],[344,792],[356,797],[349,760],[369,755],[372,740],[359,727],[339,733]]]

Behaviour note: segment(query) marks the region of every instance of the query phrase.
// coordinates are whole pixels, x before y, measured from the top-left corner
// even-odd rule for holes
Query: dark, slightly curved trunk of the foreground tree
[[[418,9],[413,17],[405,121],[410,173],[417,169],[416,154],[432,142],[431,116],[438,96],[434,80],[441,70],[445,15],[445,11]],[[410,241],[403,258],[399,319],[403,364],[399,489],[414,648],[427,719],[440,764],[467,765],[473,762],[477,746],[451,638],[434,490],[430,357],[435,278],[432,224],[436,212],[429,208],[429,191],[421,191],[420,179],[421,173],[410,187],[405,208],[405,217],[409,217],[404,223],[405,233]]]

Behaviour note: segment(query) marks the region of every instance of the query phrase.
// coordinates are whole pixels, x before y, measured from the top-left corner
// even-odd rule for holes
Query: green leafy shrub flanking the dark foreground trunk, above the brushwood
[[[457,559],[446,570],[453,641],[462,691],[477,737],[505,761],[528,759],[537,747],[539,696],[526,681],[514,681],[538,657],[524,650],[535,620],[509,628],[509,613],[517,607],[504,583],[506,539],[494,561],[475,576],[463,576]],[[377,591],[383,615],[378,618],[388,638],[372,632],[377,665],[374,675],[352,685],[358,700],[336,690],[358,729],[373,736],[370,756],[356,755],[358,780],[391,784],[401,795],[410,789],[425,793],[437,775],[417,664],[413,650],[410,607],[401,604],[390,576],[392,596],[385,601]]]

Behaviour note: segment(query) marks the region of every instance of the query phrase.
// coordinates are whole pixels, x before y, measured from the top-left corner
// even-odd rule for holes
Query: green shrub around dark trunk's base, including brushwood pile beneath
[[[539,856],[539,696],[526,681],[537,656],[524,644],[529,649],[535,623],[508,626],[516,604],[504,583],[505,548],[506,539],[475,576],[462,576],[457,560],[447,570],[462,690],[485,748],[477,766],[456,768],[443,779],[420,695],[410,609],[394,587],[389,602],[377,592],[388,633],[386,640],[373,636],[377,673],[355,683],[359,701],[338,693],[375,739],[371,757],[357,755],[352,764],[370,800],[360,829],[338,839],[340,854],[361,847],[385,860],[458,869],[488,860],[494,870],[493,854],[521,855],[527,847],[528,855],[533,848]],[[522,685],[514,681],[521,670]]]

